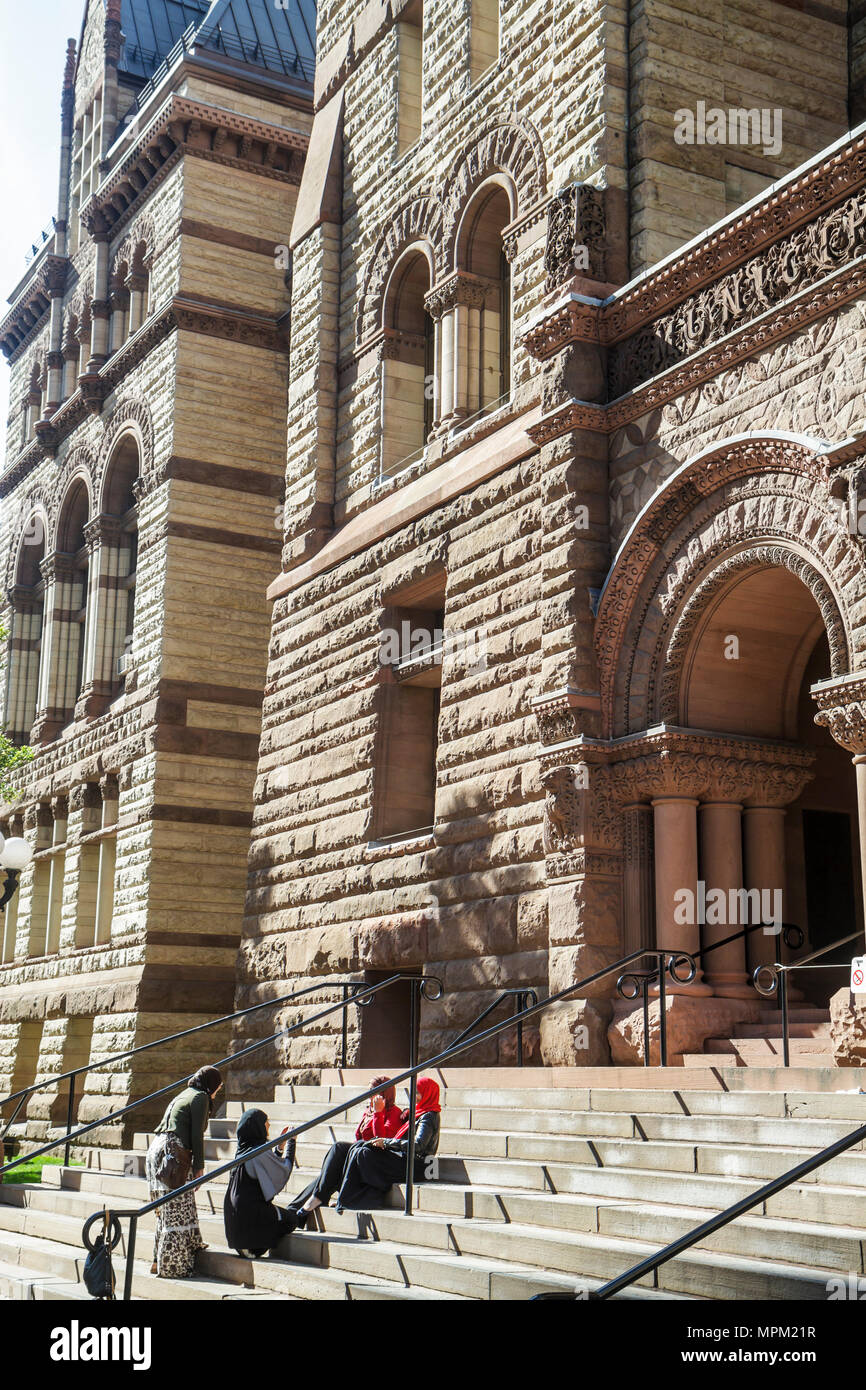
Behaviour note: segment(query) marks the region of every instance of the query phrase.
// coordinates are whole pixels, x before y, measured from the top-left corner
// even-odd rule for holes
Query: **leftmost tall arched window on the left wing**
[[[36,719],[39,663],[44,621],[44,520],[35,512],[19,542],[15,584],[10,592],[11,626],[6,689],[6,724],[15,744],[26,744]]]

